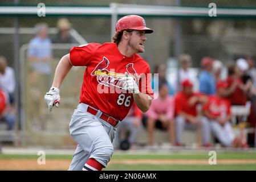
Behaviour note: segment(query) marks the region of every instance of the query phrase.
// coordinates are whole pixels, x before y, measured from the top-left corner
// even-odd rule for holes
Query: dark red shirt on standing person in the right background
[[[235,80],[232,77],[227,77],[226,79],[227,85],[229,87],[233,84],[234,81]],[[237,81],[239,82],[239,84],[243,84],[241,79],[237,79]],[[231,105],[245,105],[247,101],[247,96],[246,93],[237,86],[234,92],[230,94],[229,100],[231,102]]]

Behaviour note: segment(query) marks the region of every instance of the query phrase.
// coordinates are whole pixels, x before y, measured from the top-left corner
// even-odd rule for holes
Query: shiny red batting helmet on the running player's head
[[[153,30],[146,27],[144,18],[138,15],[127,15],[120,18],[116,23],[116,32],[120,32],[125,29],[131,30],[145,30],[146,34],[151,34]]]

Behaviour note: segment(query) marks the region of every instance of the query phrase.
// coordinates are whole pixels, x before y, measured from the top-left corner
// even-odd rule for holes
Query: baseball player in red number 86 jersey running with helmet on
[[[52,87],[44,96],[49,111],[59,106],[60,86],[70,69],[87,67],[80,102],[70,122],[70,134],[78,146],[68,170],[106,167],[117,126],[133,102],[144,113],[149,109],[153,98],[150,67],[137,53],[145,51],[145,34],[152,32],[141,16],[124,16],[116,23],[113,43],[73,47],[60,59]]]

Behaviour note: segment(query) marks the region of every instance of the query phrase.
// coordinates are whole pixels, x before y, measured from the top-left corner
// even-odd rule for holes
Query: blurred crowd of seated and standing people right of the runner
[[[155,129],[168,132],[171,146],[184,146],[182,133],[188,128],[197,133],[195,142],[198,146],[212,147],[219,143],[223,147],[255,147],[254,59],[248,56],[230,61],[227,64],[227,75],[221,77],[225,69],[221,61],[203,57],[201,71],[195,78],[190,74],[192,57],[182,54],[179,61],[180,89],[173,89],[165,78],[166,66],[157,65],[155,73],[159,74],[159,90],[155,94],[158,97],[152,101],[145,114],[133,106],[131,115],[121,125],[126,126],[131,133],[126,140],[124,134],[120,135],[120,139],[126,142],[119,143],[120,147],[127,143],[132,146],[141,126],[147,130],[150,146],[155,144]],[[193,80],[198,80],[197,89],[194,88]],[[235,126],[239,126],[238,134],[234,131]],[[251,134],[245,132],[246,127],[253,129]]]

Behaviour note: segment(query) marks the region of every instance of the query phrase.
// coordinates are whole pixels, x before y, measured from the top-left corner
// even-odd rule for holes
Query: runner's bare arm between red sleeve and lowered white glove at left
[[[55,70],[54,81],[52,82],[52,86],[56,88],[60,88],[64,78],[67,73],[72,68],[72,64],[70,62],[70,54],[67,54],[60,59],[59,64]]]

